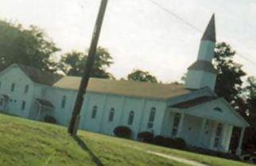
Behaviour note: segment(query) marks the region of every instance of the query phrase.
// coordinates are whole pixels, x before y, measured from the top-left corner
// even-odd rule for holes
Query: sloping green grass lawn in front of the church
[[[76,139],[71,138],[62,126],[0,114],[0,165],[188,166],[140,150],[145,149],[214,166],[249,166],[217,157],[165,149],[90,132],[80,131],[78,136]]]

